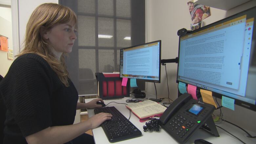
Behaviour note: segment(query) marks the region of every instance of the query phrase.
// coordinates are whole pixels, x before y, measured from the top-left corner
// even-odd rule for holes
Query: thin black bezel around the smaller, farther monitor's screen
[[[148,44],[157,43],[157,42],[159,42],[159,80],[139,79],[141,81],[154,82],[154,83],[160,83],[161,82],[161,40],[157,40],[157,41],[153,41],[153,42],[148,42],[148,43],[139,44],[139,45],[135,45],[135,46],[120,49],[120,60],[121,60],[121,50],[131,49],[131,48],[134,48],[134,47],[139,47],[139,46],[142,46],[142,45],[148,45]],[[120,77],[124,77],[124,76],[121,76],[121,65],[119,66],[119,72],[120,72]]]

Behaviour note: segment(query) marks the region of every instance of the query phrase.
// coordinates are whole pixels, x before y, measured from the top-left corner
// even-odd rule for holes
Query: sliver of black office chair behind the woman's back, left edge
[[[3,79],[3,76],[0,75],[0,82]],[[4,122],[6,118],[6,106],[4,104],[3,97],[0,95],[0,143],[4,141]]]

